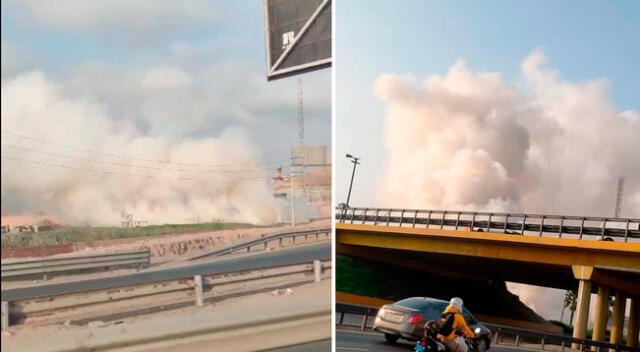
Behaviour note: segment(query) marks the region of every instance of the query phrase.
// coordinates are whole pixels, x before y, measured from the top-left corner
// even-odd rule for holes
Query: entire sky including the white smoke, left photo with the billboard
[[[297,82],[267,82],[263,22],[259,0],[2,0],[3,213],[278,221],[249,179],[289,163]],[[301,77],[305,143],[328,145],[331,70]]]

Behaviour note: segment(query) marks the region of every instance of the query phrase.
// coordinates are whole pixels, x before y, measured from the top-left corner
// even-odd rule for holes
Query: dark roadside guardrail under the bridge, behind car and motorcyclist
[[[337,325],[344,325],[344,316],[345,314],[354,314],[354,315],[362,315],[362,322],[360,324],[360,330],[365,331],[367,329],[367,323],[370,317],[375,317],[378,313],[379,308],[373,306],[364,306],[359,304],[350,304],[350,303],[340,303],[336,302],[336,315],[339,317]],[[558,345],[561,346],[562,351],[565,350],[565,347],[571,347],[572,345],[578,347],[581,351],[591,351],[592,347],[595,350],[615,350],[615,351],[629,351],[629,352],[640,352],[640,348],[638,347],[630,347],[625,345],[615,345],[608,342],[602,341],[593,341],[587,339],[577,339],[567,335],[561,334],[552,334],[546,332],[540,332],[529,329],[521,329],[514,328],[505,325],[484,323],[487,328],[489,328],[493,333],[493,341],[494,345],[502,344],[502,345],[515,345],[516,347],[520,347],[525,341],[530,342],[530,340],[534,340],[536,345],[540,346],[541,350],[545,350],[548,345]],[[511,336],[514,339],[513,344],[505,343],[505,337]],[[527,346],[529,347],[529,346]]]

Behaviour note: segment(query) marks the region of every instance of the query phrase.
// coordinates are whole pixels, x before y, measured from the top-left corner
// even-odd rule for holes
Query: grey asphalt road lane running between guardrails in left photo
[[[246,271],[329,259],[331,259],[331,243],[319,243],[297,248],[264,252],[250,256],[185,265],[176,268],[146,270],[134,274],[100,279],[2,290],[2,300],[16,301],[32,299],[74,292],[101,290],[156,281],[180,279],[192,277],[194,275],[215,275],[232,271]]]

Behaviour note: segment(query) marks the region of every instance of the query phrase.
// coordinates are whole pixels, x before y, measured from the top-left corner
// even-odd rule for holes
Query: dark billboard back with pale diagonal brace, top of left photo
[[[267,80],[331,66],[331,0],[263,0]]]

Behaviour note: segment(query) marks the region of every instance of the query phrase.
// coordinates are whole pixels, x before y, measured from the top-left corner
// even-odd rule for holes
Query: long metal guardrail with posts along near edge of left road
[[[272,266],[268,268],[251,268],[243,270],[216,272],[211,275],[193,275],[172,277],[167,280],[149,280],[133,285],[115,284],[101,289],[73,291],[50,296],[37,296],[27,299],[2,302],[2,329],[6,329],[10,322],[27,318],[46,317],[52,312],[56,319],[65,320],[69,316],[89,314],[89,320],[96,320],[96,315],[111,316],[126,315],[128,311],[122,308],[122,303],[128,300],[136,310],[154,310],[161,302],[160,310],[171,305],[176,308],[185,306],[180,302],[192,299],[197,306],[203,306],[205,299],[220,298],[225,294],[238,295],[247,290],[256,289],[251,285],[261,285],[260,289],[274,287],[295,282],[319,282],[331,268],[330,261],[300,262],[289,265]],[[209,294],[209,296],[206,296]],[[149,300],[153,297],[152,300]],[[4,299],[3,299],[4,300]],[[176,303],[178,302],[178,303]],[[145,308],[146,305],[146,308]],[[149,305],[152,305],[149,307]],[[189,305],[188,303],[186,305]],[[79,313],[78,309],[86,313]],[[76,319],[82,320],[82,319]]]

